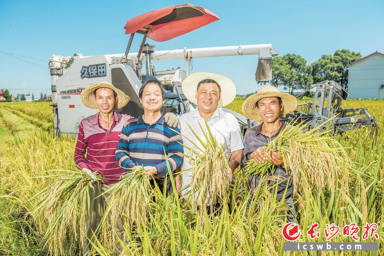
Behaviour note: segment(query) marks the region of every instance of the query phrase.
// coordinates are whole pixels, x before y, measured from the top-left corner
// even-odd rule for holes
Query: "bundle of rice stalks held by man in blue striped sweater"
[[[123,218],[129,232],[134,224],[137,226],[146,224],[154,191],[144,168],[129,171],[110,190],[112,190],[111,199],[105,216],[109,214],[111,227],[116,226],[118,218]]]

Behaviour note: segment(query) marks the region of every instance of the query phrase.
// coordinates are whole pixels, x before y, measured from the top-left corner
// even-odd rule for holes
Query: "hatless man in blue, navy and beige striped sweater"
[[[183,159],[182,138],[178,133],[180,129],[171,129],[160,113],[165,101],[165,90],[160,81],[149,80],[144,83],[139,90],[139,98],[144,114],[128,120],[123,126],[116,149],[116,161],[126,171],[144,166],[163,191],[168,174],[166,156],[172,172],[181,165]],[[168,194],[171,190],[170,178],[167,181]]]

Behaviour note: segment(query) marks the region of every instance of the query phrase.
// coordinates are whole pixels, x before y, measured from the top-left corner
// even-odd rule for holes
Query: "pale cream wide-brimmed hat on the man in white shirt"
[[[184,79],[181,85],[185,97],[190,102],[197,104],[197,100],[195,98],[197,84],[204,79],[212,79],[220,85],[221,99],[219,100],[217,107],[224,107],[230,104],[235,99],[236,86],[231,79],[213,73],[198,72]]]

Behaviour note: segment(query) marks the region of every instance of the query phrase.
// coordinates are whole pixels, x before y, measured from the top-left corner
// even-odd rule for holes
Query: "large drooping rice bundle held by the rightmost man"
[[[327,188],[334,192],[338,182],[341,191],[347,193],[352,169],[350,157],[330,131],[304,130],[305,125],[287,125],[267,145],[265,155],[275,151],[283,158],[286,170],[292,171],[295,193],[298,188],[316,189],[318,193]],[[268,161],[259,164],[252,159],[245,166],[247,174],[268,174],[273,170]]]

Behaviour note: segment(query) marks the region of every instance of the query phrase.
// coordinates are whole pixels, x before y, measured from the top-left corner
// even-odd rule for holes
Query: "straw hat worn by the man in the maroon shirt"
[[[88,86],[81,92],[80,94],[81,100],[85,107],[98,108],[95,102],[93,92],[99,88],[110,88],[116,92],[118,99],[113,109],[119,109],[128,104],[129,97],[122,90],[116,88],[115,86],[113,86],[108,82],[103,81],[103,82]]]

